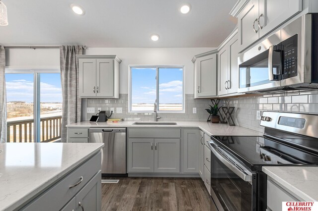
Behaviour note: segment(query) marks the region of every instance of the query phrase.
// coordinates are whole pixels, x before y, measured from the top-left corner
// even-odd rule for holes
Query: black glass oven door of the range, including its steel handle
[[[211,196],[219,211],[256,211],[256,174],[216,145],[211,150]]]

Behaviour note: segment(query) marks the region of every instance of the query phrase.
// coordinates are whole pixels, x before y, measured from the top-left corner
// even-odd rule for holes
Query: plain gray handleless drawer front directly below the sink
[[[129,138],[180,138],[180,129],[136,128],[128,130]]]

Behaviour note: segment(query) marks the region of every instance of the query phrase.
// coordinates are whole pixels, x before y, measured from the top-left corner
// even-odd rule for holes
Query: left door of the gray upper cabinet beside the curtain
[[[96,59],[79,59],[79,96],[96,96]]]

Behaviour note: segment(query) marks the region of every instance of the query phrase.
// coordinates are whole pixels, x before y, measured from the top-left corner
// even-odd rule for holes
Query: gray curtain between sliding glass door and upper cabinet
[[[67,142],[67,124],[80,121],[79,63],[75,55],[83,54],[82,46],[60,46],[63,95],[61,142]]]

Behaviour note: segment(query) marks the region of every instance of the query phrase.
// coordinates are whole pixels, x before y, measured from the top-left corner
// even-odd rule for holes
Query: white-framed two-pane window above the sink
[[[183,66],[130,66],[131,112],[184,112]]]

